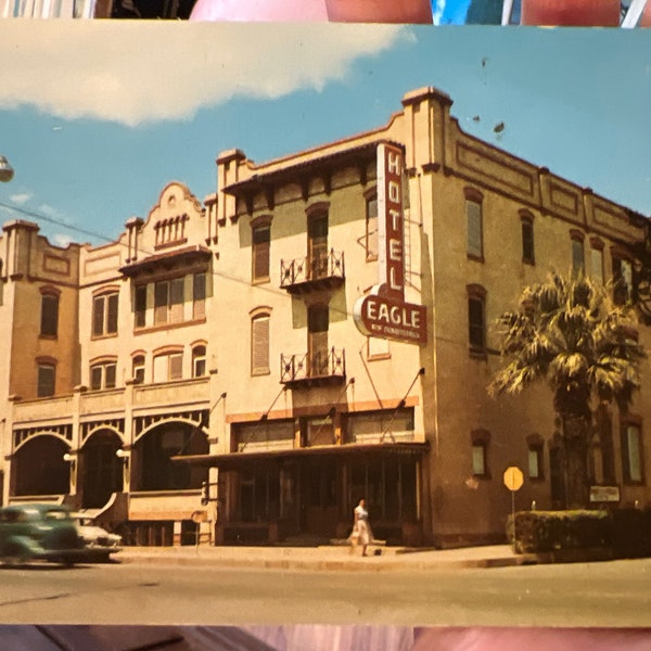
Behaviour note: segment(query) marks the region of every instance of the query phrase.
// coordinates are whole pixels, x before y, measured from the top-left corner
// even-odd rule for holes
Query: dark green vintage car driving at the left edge
[[[0,508],[0,561],[46,560],[72,565],[85,560],[82,537],[67,507],[24,503]]]

